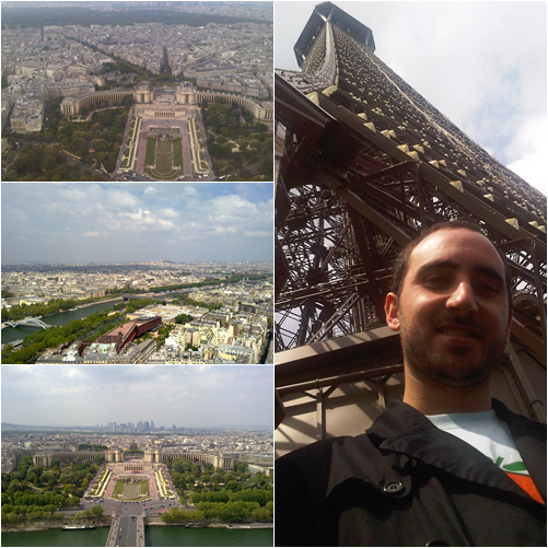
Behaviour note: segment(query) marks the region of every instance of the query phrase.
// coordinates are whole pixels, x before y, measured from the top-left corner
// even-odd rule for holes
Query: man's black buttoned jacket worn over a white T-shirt
[[[492,405],[546,501],[546,424]],[[401,403],[279,458],[275,485],[276,546],[546,546],[546,505]]]

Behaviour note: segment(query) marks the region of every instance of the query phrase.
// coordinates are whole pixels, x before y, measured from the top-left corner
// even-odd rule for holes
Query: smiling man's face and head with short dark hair
[[[510,333],[504,265],[467,229],[444,229],[411,253],[399,299],[386,298],[407,368],[446,386],[474,386],[497,366]]]

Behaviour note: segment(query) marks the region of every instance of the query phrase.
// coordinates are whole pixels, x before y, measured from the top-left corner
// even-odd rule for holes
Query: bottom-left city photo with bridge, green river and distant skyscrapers
[[[2,365],[2,546],[272,546],[272,382]]]

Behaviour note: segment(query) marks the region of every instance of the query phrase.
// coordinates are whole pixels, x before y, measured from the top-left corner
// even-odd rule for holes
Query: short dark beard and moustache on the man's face
[[[475,386],[487,381],[500,366],[501,358],[505,353],[506,334],[486,341],[483,337],[489,336],[483,333],[483,351],[481,355],[467,355],[470,349],[467,347],[451,347],[445,352],[435,350],[432,346],[431,336],[424,328],[411,327],[407,325],[405,315],[400,311],[400,334],[401,347],[406,364],[411,370],[417,370],[427,375],[432,381],[452,387]],[[469,320],[458,320],[451,318],[453,324],[470,325]],[[442,322],[438,322],[441,325]],[[429,327],[433,325],[430,324]]]

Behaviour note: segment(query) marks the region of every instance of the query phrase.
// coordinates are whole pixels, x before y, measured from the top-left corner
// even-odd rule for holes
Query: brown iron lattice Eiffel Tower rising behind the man
[[[370,28],[324,2],[294,46],[302,70],[276,70],[278,403],[403,371],[383,308],[392,265],[422,228],[454,219],[480,223],[509,258],[512,349],[546,380],[546,197],[374,51]],[[546,420],[516,352],[509,389]]]

